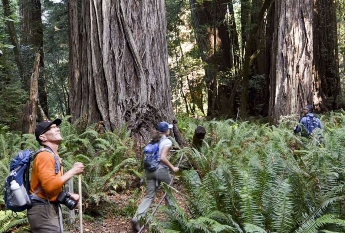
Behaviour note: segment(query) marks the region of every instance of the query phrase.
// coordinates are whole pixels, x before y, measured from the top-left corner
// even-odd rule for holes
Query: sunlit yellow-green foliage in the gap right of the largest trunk
[[[206,85],[188,1],[166,0],[171,96],[176,112],[205,115]]]

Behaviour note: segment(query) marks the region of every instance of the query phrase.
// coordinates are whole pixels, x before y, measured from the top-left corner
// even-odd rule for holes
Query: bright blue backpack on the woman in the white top
[[[154,171],[158,168],[160,163],[159,143],[149,143],[144,147],[144,168],[146,170]]]

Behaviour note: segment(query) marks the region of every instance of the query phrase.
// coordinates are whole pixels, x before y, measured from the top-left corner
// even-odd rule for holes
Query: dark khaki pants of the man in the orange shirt
[[[28,209],[28,220],[33,233],[63,233],[62,216],[58,204],[41,204]]]

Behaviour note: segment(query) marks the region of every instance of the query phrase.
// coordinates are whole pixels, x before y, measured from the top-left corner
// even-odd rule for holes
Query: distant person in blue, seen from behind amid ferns
[[[321,121],[313,114],[313,111],[314,111],[314,108],[312,105],[307,105],[303,109],[304,115],[299,119],[298,121],[299,125],[297,125],[294,128],[295,133],[299,133],[302,130],[301,132],[302,137],[308,137],[309,135],[312,134],[315,128],[322,129]],[[304,126],[304,129],[302,129],[301,125]]]

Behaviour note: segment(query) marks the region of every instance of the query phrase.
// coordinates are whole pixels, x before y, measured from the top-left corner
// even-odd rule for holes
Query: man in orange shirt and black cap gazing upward
[[[62,140],[59,125],[60,119],[42,121],[35,130],[36,140],[43,148],[34,158],[31,187],[32,207],[28,208],[28,220],[33,233],[63,233],[61,205],[57,197],[62,186],[74,175],[84,170],[82,163],[75,163],[63,174],[58,147]],[[71,199],[77,201],[79,195],[70,193]]]

